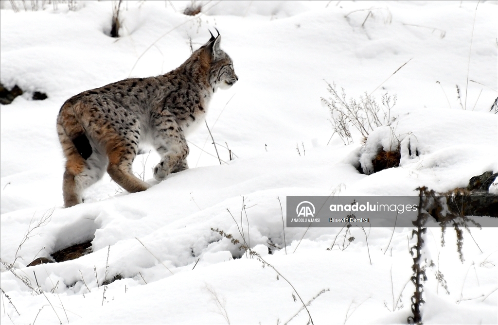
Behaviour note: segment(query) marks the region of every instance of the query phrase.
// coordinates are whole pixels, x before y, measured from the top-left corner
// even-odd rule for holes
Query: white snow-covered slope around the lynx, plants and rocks
[[[307,303],[324,290],[308,306],[314,324],[403,324],[412,229],[353,227],[343,246],[340,228],[284,228],[279,200],[285,217],[286,196],[416,195],[497,172],[497,1],[210,1],[194,17],[181,13],[190,1],[124,1],[118,39],[107,35],[111,1],[75,11],[16,2],[20,12],[7,1],[0,10],[1,83],[25,91],[1,106],[0,252],[43,294],[2,265],[2,324],[306,324],[305,310],[293,318],[297,294]],[[166,73],[190,55],[189,37],[195,49],[214,27],[240,78],[207,114],[224,163],[200,127],[188,137],[189,170],[157,184],[159,158],[146,150],[134,171],[149,190],[125,193],[106,175],[84,204],[63,209],[55,119],[65,100]],[[331,138],[327,83],[347,99],[396,95],[395,121],[369,141],[404,139],[398,168],[357,171],[361,137]],[[31,100],[34,91],[48,99]],[[240,229],[274,269],[211,228],[242,240]],[[472,236],[464,233],[462,263],[454,232],[443,247],[441,230],[428,229],[425,324],[498,323],[498,229]],[[87,240],[88,255],[25,266]]]

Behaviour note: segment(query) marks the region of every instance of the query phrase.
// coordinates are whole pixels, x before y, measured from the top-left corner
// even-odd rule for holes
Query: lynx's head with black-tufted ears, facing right
[[[218,29],[216,31],[218,32]],[[218,32],[218,36],[216,37],[211,34],[211,39],[203,46],[205,51],[208,51],[211,56],[209,83],[213,92],[217,88],[228,89],[239,80],[239,77],[235,74],[234,63],[230,56],[220,48],[220,42],[221,35]]]

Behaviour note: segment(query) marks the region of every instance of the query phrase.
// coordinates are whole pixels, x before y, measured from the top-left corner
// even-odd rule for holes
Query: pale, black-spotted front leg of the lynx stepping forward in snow
[[[164,123],[157,126],[153,141],[155,149],[162,157],[153,169],[153,175],[157,181],[164,180],[171,173],[188,169],[187,141],[172,118],[166,118]]]

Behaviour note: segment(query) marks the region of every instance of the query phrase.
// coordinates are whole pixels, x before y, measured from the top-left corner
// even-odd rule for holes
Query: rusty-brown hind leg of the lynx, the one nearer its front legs
[[[150,186],[133,175],[132,166],[138,145],[129,139],[114,137],[107,143],[109,165],[107,172],[111,178],[130,193],[141,192]]]

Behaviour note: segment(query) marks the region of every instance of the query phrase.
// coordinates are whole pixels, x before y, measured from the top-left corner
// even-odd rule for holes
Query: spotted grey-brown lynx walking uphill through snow
[[[111,178],[126,191],[150,185],[133,175],[139,143],[149,142],[161,156],[158,181],[188,169],[185,134],[202,121],[211,97],[239,80],[232,59],[220,49],[221,36],[193,52],[180,67],[161,76],[131,78],[89,90],[67,100],[57,117],[66,157],[64,206],[82,202],[82,191]]]

